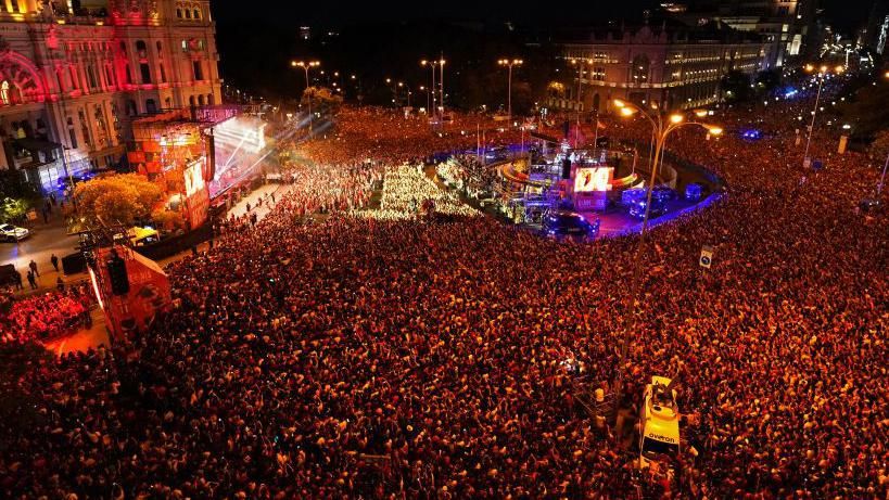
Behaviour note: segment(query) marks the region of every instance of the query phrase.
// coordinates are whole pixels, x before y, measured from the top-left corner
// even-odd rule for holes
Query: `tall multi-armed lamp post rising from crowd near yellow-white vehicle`
[[[660,112],[658,113],[650,113],[643,107],[636,106],[635,104],[625,103],[620,100],[613,101],[614,105],[620,110],[621,116],[631,117],[635,114],[640,114],[645,116],[650,123],[653,129],[653,137],[655,137],[655,158],[651,162],[651,179],[648,182],[648,194],[646,196],[645,203],[645,215],[643,217],[643,226],[642,232],[639,234],[639,245],[636,249],[636,259],[635,259],[635,267],[633,269],[633,281],[631,285],[631,294],[634,302],[634,310],[631,312],[632,315],[632,323],[630,325],[624,325],[623,332],[621,333],[621,350],[620,357],[618,359],[618,367],[617,367],[617,383],[614,386],[614,414],[617,415],[618,410],[620,409],[621,397],[623,392],[623,372],[624,372],[624,363],[626,362],[627,351],[630,349],[630,331],[635,329],[635,318],[638,316],[640,309],[640,299],[639,294],[642,292],[642,272],[643,272],[643,256],[645,255],[645,244],[646,244],[646,235],[648,231],[648,220],[651,214],[651,195],[655,191],[655,184],[657,183],[658,179],[658,164],[659,159],[663,155],[663,145],[666,142],[666,138],[675,130],[686,127],[686,126],[698,126],[706,129],[709,133],[713,136],[719,136],[722,133],[722,128],[703,124],[700,121],[687,121],[685,115],[680,113],[672,113],[669,115],[664,115]],[[707,116],[707,112],[696,112],[696,116],[703,117]],[[626,315],[624,315],[626,318]],[[626,320],[625,320],[626,321]]]

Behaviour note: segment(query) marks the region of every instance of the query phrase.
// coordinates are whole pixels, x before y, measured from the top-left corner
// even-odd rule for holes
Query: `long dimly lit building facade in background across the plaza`
[[[668,110],[707,106],[720,101],[728,72],[753,75],[767,67],[762,41],[665,24],[594,33],[564,43],[562,56],[570,63],[566,80],[550,82],[548,104],[580,111],[604,110],[612,99]]]

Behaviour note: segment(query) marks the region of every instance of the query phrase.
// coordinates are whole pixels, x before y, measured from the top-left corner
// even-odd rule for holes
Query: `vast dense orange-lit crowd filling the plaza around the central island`
[[[285,196],[255,228],[234,221],[212,251],[175,265],[181,307],[132,345],[21,377],[36,416],[0,422],[0,490],[887,498],[886,220],[856,209],[876,182],[861,156],[802,169],[785,121],[805,105],[759,110],[774,133],[757,143],[691,128],[671,138],[729,194],[652,232],[632,321],[636,238],[560,244],[487,217],[306,222]],[[323,170],[434,151],[410,138],[384,146],[395,153],[356,149],[353,133],[392,124],[350,113],[316,157]],[[835,148],[813,144],[823,157]],[[344,174],[318,175],[331,180],[303,190],[313,208]],[[714,247],[709,271],[701,245]],[[579,384],[614,389],[624,332],[626,406],[651,375],[680,383],[688,446],[672,486],[640,480],[621,436],[575,405]]]

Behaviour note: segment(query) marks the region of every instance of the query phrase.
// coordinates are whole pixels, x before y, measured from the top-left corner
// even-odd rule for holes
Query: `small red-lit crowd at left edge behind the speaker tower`
[[[25,298],[5,294],[0,297],[0,344],[45,342],[71,333],[90,322],[94,302],[87,284]]]

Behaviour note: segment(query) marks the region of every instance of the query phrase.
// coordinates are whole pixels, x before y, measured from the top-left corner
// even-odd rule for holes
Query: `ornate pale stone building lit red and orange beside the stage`
[[[0,168],[56,179],[111,166],[130,123],[220,103],[208,0],[0,0]]]

